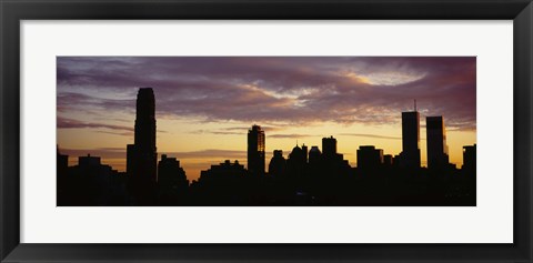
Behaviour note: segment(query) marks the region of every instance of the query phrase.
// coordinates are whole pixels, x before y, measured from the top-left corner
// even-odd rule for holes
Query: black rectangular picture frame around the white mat
[[[0,260],[242,262],[532,262],[531,0],[0,0]],[[414,19],[513,20],[513,244],[29,244],[20,243],[21,20]],[[52,92],[52,91],[51,91]]]

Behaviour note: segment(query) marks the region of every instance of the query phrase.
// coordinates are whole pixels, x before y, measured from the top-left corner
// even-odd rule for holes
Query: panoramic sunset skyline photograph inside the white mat
[[[57,206],[476,206],[476,57],[56,61]]]

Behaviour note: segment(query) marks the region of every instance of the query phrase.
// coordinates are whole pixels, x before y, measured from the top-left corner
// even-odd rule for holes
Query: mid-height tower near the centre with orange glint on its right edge
[[[248,131],[248,171],[253,175],[264,174],[264,131],[260,125]]]

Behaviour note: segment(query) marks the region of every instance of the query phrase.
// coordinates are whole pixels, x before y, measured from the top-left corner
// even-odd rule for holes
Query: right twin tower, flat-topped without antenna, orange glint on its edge
[[[442,117],[426,117],[428,168],[442,169],[449,164],[446,130]]]

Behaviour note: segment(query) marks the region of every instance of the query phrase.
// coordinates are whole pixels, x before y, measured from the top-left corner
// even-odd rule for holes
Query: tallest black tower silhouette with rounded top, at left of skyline
[[[152,88],[140,88],[137,94],[134,144],[127,148],[127,173],[134,204],[150,205],[154,202],[157,162],[155,97]]]

